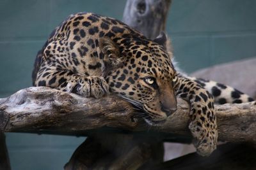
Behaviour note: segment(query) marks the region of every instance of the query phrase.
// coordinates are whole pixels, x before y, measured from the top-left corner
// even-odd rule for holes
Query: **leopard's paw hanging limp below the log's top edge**
[[[199,121],[189,124],[189,129],[194,137],[196,152],[201,156],[209,156],[215,149],[218,141],[218,131],[216,125],[205,127]]]

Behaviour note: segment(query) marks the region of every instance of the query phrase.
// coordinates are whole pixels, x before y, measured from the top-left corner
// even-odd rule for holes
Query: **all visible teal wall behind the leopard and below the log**
[[[71,13],[122,19],[125,0],[1,0],[0,97],[31,86],[36,53]],[[173,0],[167,33],[187,73],[256,56],[255,0]],[[6,133],[12,169],[63,169],[84,137]],[[0,151],[1,152],[1,151]]]

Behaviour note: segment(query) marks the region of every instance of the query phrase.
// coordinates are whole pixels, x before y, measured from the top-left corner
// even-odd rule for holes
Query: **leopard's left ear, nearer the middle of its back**
[[[110,38],[100,38],[99,41],[100,50],[108,58],[118,58],[120,57],[118,46]]]

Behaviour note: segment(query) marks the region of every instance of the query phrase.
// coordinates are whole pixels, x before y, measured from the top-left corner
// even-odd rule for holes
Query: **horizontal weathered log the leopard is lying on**
[[[0,99],[0,130],[3,132],[46,132],[86,134],[92,129],[111,127],[148,132],[148,125],[134,117],[131,104],[116,96],[83,98],[47,87],[30,87]],[[158,134],[189,136],[189,104],[178,100],[178,110],[160,127]],[[219,139],[256,143],[256,106],[216,106]]]

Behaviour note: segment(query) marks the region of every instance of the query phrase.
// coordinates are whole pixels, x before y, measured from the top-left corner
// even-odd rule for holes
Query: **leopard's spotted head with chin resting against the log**
[[[100,40],[102,52],[108,55],[106,67],[111,68],[106,74],[111,92],[143,110],[143,117],[153,125],[165,122],[177,110],[173,89],[177,76],[165,45],[164,33],[154,40]]]

